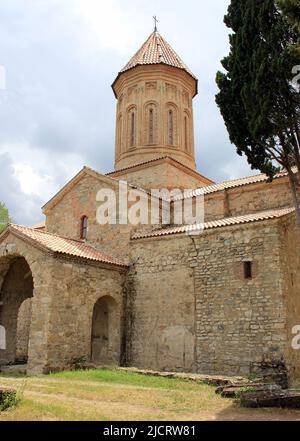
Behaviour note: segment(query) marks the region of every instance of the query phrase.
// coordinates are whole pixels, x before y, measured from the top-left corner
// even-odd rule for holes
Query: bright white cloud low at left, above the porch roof
[[[33,224],[42,218],[41,207],[82,168],[82,158],[61,152],[33,149],[26,144],[0,145],[0,200],[15,222]]]

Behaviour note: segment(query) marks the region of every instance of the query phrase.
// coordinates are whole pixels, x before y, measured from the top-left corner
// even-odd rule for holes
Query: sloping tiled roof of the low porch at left
[[[68,239],[21,225],[9,225],[0,235],[0,243],[10,233],[55,256],[77,258],[123,268],[127,267],[119,259],[103,254],[83,241]]]

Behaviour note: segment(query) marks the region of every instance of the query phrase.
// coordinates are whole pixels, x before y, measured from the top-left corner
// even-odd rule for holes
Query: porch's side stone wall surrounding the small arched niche
[[[90,361],[94,307],[104,297],[112,299],[116,305],[108,352],[110,364],[119,364],[124,277],[123,273],[109,268],[54,262],[48,371],[69,367],[78,360]],[[107,361],[107,358],[102,359],[103,363]]]

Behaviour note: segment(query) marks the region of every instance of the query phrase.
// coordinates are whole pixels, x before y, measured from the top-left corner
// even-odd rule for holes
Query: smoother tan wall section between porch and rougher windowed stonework
[[[186,236],[133,242],[127,297],[128,365],[194,371],[195,296]]]

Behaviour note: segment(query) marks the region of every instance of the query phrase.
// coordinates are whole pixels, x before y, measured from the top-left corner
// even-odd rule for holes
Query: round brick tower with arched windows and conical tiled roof
[[[198,81],[155,30],[119,72],[115,169],[169,156],[195,170],[193,98]]]

